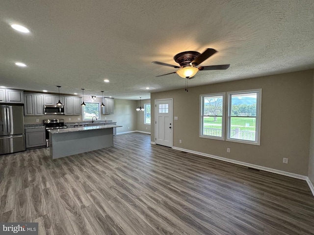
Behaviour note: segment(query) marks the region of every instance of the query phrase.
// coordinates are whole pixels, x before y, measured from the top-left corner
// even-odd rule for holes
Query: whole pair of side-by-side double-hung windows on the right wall
[[[261,103],[262,89],[202,94],[200,137],[260,145]]]

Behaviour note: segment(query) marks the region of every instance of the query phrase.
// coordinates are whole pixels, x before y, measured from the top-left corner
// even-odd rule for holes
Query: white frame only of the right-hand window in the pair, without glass
[[[231,135],[231,95],[233,94],[246,94],[246,93],[257,93],[257,106],[256,106],[256,127],[255,127],[255,141],[246,141],[230,138]],[[248,143],[254,145],[261,145],[261,117],[262,117],[262,89],[244,90],[227,92],[227,107],[228,107],[228,118],[227,118],[227,138],[226,141]]]

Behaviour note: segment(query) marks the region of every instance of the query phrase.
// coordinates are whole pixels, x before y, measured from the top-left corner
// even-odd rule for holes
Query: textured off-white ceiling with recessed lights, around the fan
[[[176,64],[175,54],[207,47],[219,52],[202,66],[231,66],[199,71],[189,86],[314,69],[314,1],[0,1],[0,86],[145,99],[185,85],[156,77],[176,69],[152,61]]]

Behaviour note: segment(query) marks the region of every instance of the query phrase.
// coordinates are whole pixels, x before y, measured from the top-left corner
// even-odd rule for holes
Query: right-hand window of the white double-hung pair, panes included
[[[260,145],[262,89],[228,92],[228,141]]]

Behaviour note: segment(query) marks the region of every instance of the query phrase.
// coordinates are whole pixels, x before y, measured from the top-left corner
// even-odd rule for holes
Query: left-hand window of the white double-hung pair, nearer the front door
[[[201,95],[201,137],[225,139],[225,93]]]

